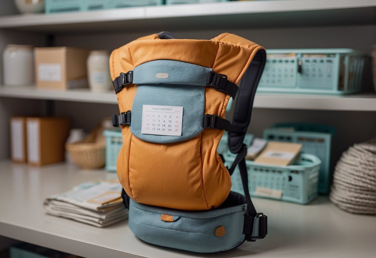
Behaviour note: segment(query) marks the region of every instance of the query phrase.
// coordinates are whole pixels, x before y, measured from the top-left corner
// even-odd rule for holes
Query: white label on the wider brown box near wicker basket
[[[33,163],[39,163],[39,122],[28,121],[27,122],[27,160]]]

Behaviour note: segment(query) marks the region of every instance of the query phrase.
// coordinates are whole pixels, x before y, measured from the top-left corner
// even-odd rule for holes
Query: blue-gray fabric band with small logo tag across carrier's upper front
[[[133,69],[134,84],[206,85],[211,68],[175,60],[155,60]],[[162,75],[164,74],[164,75]],[[157,76],[167,78],[158,78]]]

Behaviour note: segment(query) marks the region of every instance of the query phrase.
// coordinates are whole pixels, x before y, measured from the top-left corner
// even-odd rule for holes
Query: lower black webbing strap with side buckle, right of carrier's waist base
[[[255,241],[256,239],[264,238],[267,235],[268,218],[264,214],[256,212],[255,206],[253,205],[251,200],[251,196],[249,195],[248,173],[245,159],[246,153],[247,146],[243,144],[243,147],[235,158],[232,167],[235,163],[239,164],[241,183],[243,185],[244,196],[246,197],[247,201],[247,210],[246,215],[244,216],[243,234],[246,235],[246,241]]]

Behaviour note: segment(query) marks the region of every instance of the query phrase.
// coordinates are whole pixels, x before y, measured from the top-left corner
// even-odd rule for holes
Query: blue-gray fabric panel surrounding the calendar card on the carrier
[[[167,136],[142,134],[143,105],[182,106],[182,135]],[[175,143],[195,137],[202,132],[205,111],[205,87],[193,85],[138,85],[132,106],[130,131],[143,141]]]

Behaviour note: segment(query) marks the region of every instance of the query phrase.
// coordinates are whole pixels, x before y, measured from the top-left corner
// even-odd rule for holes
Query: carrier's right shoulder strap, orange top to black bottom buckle
[[[229,168],[229,173],[232,175],[237,165],[239,165],[244,196],[247,200],[247,215],[244,216],[243,234],[246,235],[247,241],[255,241],[256,239],[264,238],[267,234],[267,216],[256,212],[249,194],[248,173],[245,160],[247,146],[243,141],[251,120],[253,100],[255,98],[257,85],[261,78],[262,71],[264,70],[266,52],[263,47],[237,35],[223,33],[214,39],[253,49],[252,54],[249,56],[246,70],[239,75],[239,78],[242,77],[240,83],[238,83],[239,79],[235,82],[239,85],[239,91],[233,112],[232,124],[233,126],[240,127],[242,130],[241,132],[229,132],[228,145],[232,153],[238,153],[231,168]]]

